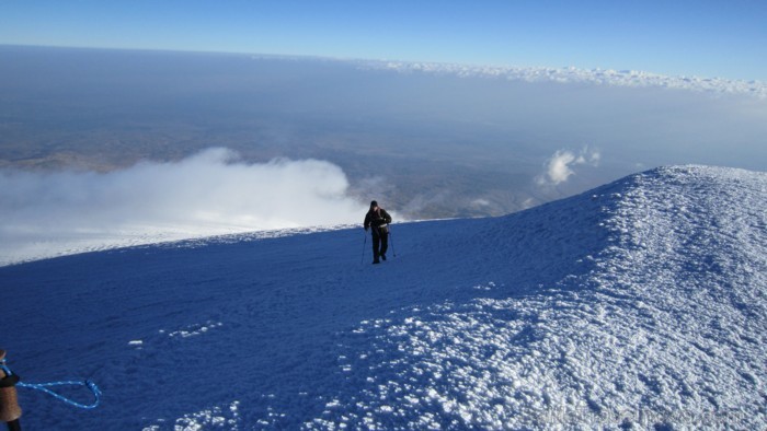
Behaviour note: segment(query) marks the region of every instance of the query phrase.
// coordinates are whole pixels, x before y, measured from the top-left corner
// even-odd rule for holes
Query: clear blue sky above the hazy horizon
[[[633,69],[767,81],[767,1],[14,1],[0,44]]]

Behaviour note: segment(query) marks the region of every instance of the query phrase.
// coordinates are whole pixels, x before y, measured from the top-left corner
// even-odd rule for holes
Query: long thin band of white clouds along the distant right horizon
[[[454,74],[462,78],[501,78],[510,81],[525,82],[592,83],[598,85],[639,88],[653,86],[709,93],[748,94],[759,98],[767,97],[767,83],[762,81],[741,81],[723,78],[671,77],[637,70],[586,70],[573,67],[519,68],[404,61],[360,61],[359,67],[370,70],[393,70],[402,73],[422,72]]]

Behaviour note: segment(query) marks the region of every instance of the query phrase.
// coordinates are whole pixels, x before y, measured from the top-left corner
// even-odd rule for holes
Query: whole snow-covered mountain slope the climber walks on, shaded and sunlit
[[[28,429],[763,429],[766,209],[767,174],[680,166],[397,224],[375,267],[359,228],[3,267],[0,347],[104,392],[21,388]]]

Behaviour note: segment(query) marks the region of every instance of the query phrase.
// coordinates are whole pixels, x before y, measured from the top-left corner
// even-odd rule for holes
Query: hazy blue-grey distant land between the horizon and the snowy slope
[[[660,164],[767,160],[764,98],[659,83],[14,46],[0,46],[0,168],[108,172],[224,147],[251,163],[327,160],[352,196],[410,219],[500,215]],[[584,148],[599,162],[537,183],[557,151]]]

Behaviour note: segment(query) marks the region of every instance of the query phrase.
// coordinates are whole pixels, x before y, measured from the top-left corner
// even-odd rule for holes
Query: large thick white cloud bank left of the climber
[[[354,223],[366,206],[317,160],[247,164],[226,149],[105,174],[0,171],[0,265],[104,245]]]

